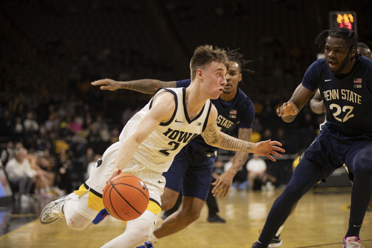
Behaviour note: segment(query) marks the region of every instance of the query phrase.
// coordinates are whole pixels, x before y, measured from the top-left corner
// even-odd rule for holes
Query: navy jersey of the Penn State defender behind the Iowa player
[[[176,87],[188,87],[191,79],[177,81]],[[234,99],[224,102],[221,98],[211,99],[211,103],[218,112],[217,126],[223,133],[231,133],[238,126],[239,128],[252,128],[254,119],[254,106],[247,95],[238,88]],[[191,142],[193,148],[201,151],[217,151],[218,148],[205,143],[201,135],[196,136]]]

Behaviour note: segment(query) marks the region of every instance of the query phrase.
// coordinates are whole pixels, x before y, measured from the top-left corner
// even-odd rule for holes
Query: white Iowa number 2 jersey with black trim
[[[211,110],[211,102],[207,100],[200,113],[190,120],[185,103],[186,88],[160,88],[154,97],[163,91],[169,91],[174,95],[176,109],[173,116],[168,122],[160,123],[133,155],[133,158],[158,173],[167,171],[174,156],[183,146],[204,131]],[[123,142],[134,131],[150,110],[154,97],[128,121],[119,136],[119,141]]]

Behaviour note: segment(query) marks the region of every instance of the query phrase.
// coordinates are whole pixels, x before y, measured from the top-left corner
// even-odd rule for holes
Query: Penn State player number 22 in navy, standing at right
[[[324,47],[325,58],[308,68],[302,83],[277,114],[292,122],[319,88],[327,122],[274,202],[254,248],[267,248],[294,204],[343,164],[354,175],[343,248],[363,247],[359,232],[372,194],[372,61],[357,54],[357,35],[347,28],[324,30],[315,43]]]

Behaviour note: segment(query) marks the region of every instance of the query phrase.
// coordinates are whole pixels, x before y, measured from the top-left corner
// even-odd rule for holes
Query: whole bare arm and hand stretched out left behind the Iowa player
[[[175,88],[176,81],[160,81],[156,79],[140,79],[133,81],[118,82],[112,79],[101,79],[91,83],[94,86],[101,85],[101,90],[134,90],[145,94],[155,94],[158,88]]]

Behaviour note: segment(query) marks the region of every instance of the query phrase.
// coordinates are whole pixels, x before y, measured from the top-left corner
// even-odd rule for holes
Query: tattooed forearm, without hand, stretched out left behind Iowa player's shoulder
[[[145,94],[155,94],[158,88],[176,87],[176,81],[164,82],[156,79],[142,79],[122,82],[120,88],[134,90]]]

